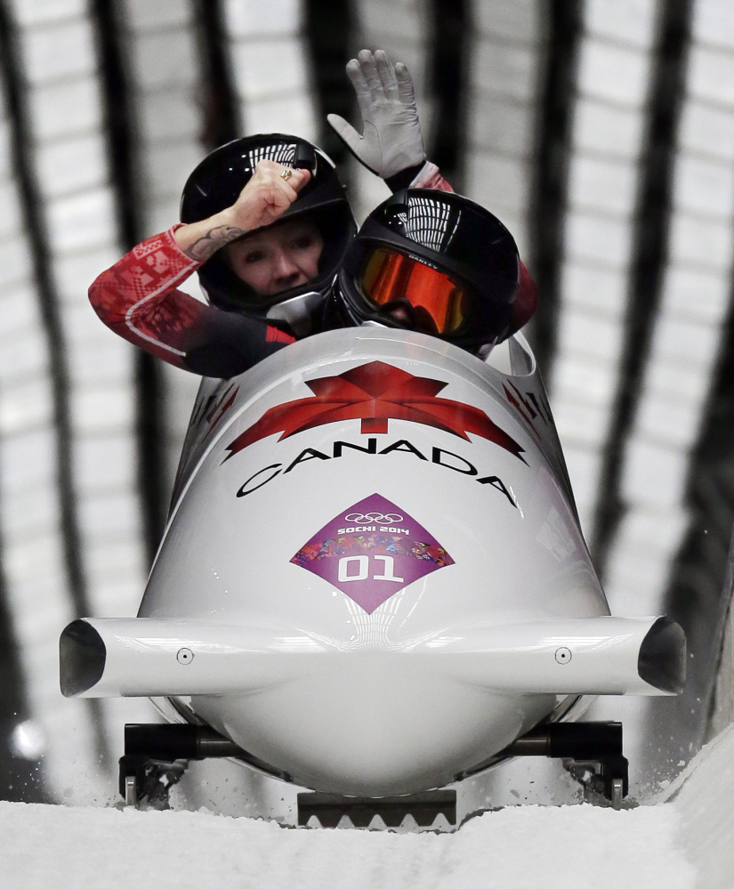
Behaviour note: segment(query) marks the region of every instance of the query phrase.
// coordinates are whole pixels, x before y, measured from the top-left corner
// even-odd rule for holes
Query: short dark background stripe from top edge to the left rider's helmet
[[[194,8],[205,80],[201,141],[214,149],[241,136],[243,127],[227,56],[222,2],[196,0]]]

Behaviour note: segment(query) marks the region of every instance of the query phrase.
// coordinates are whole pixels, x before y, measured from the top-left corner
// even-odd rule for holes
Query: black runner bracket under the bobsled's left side
[[[293,781],[262,763],[234,741],[214,729],[190,723],[128,723],[125,725],[125,756],[120,757],[120,796],[125,805],[137,805],[143,797],[159,807],[168,803],[168,790],[176,784],[191,759],[234,757],[275,778]]]

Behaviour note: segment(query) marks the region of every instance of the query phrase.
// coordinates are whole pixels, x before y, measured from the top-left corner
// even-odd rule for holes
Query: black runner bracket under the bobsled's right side
[[[571,774],[579,777],[579,772],[592,772],[591,789],[606,796],[615,809],[622,805],[629,790],[629,764],[622,756],[622,723],[536,725],[486,763],[456,775],[456,780],[469,778],[511,756],[570,760]]]

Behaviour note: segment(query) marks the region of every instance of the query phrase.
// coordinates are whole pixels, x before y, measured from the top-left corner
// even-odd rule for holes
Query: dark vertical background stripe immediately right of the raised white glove
[[[433,97],[432,142],[428,159],[456,191],[464,190],[467,79],[471,53],[469,0],[432,0],[432,40],[427,59]]]

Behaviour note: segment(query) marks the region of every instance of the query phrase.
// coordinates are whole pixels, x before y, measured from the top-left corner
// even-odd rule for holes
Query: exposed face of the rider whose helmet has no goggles
[[[265,296],[316,278],[323,249],[324,239],[310,219],[282,222],[225,247],[232,271]]]

